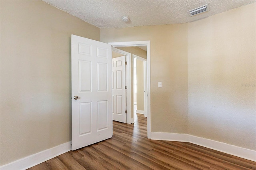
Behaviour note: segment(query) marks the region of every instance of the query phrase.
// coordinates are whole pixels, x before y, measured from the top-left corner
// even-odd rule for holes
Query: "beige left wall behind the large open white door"
[[[1,3],[1,165],[71,140],[71,34],[100,30],[43,1]]]

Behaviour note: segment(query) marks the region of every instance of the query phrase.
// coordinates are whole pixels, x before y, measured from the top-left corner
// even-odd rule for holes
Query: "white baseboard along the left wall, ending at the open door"
[[[32,166],[38,165],[42,162],[45,162],[46,160],[52,159],[70,150],[72,150],[71,141],[66,142],[64,144],[60,144],[58,146],[55,146],[47,150],[43,150],[36,154],[32,154],[30,156],[16,160],[9,164],[3,165],[0,167],[0,169],[1,170],[26,170],[28,168],[31,168]]]

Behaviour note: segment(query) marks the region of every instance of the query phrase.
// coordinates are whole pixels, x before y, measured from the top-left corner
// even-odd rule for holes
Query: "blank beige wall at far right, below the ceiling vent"
[[[256,3],[188,24],[189,133],[256,150]]]

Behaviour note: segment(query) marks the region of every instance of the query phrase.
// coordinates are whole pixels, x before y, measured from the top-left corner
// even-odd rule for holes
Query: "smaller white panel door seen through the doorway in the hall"
[[[112,112],[113,120],[126,123],[126,56],[112,59]]]

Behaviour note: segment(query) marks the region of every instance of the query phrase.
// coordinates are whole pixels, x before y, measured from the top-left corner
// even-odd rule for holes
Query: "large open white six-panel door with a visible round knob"
[[[72,35],[72,150],[112,137],[112,49]]]

